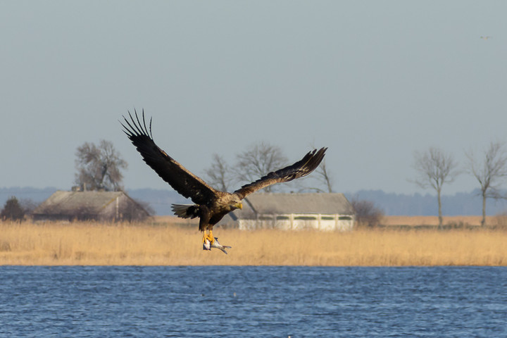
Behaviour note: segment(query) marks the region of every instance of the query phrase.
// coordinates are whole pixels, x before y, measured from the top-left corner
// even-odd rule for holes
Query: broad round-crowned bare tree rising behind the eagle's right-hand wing
[[[234,174],[239,182],[252,182],[273,170],[283,168],[286,163],[287,158],[279,147],[261,142],[237,155]],[[265,187],[265,192],[271,192],[272,187]]]

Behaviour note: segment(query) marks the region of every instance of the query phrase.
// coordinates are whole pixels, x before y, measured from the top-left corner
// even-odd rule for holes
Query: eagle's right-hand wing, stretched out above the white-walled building
[[[318,167],[324,158],[326,150],[327,148],[320,148],[319,150],[315,149],[310,151],[301,161],[297,161],[293,165],[268,173],[268,175],[261,177],[255,182],[251,182],[237,189],[234,193],[238,194],[239,197],[243,199],[245,196],[259,189],[268,187],[268,185],[289,182],[296,178],[306,176]]]

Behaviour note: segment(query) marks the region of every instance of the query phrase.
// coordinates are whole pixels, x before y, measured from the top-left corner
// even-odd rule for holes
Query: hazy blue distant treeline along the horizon
[[[58,189],[55,187],[40,189],[31,187],[0,188],[0,208],[11,196],[16,196],[20,201],[28,199],[39,204],[56,190]],[[482,213],[482,201],[477,193],[478,191],[443,195],[443,215],[480,215]],[[148,203],[154,209],[156,215],[172,215],[170,205],[173,203],[192,203],[169,189],[127,189],[127,194],[132,199]],[[360,190],[358,192],[346,192],[345,196],[348,199],[373,201],[375,206],[384,211],[385,215],[438,215],[437,197],[431,194],[408,195],[386,193],[382,190]],[[507,201],[489,199],[487,200],[486,211],[487,215],[504,213],[507,211]]]

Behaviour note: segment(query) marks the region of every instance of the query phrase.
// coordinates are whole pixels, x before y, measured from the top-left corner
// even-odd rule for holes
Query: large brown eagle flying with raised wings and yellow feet
[[[134,111],[135,118],[130,112],[128,113],[130,120],[123,116],[125,124],[121,123],[125,128],[123,132],[132,141],[144,162],[155,170],[162,180],[168,182],[179,194],[194,202],[191,205],[173,204],[172,208],[175,215],[180,218],[199,217],[199,230],[204,233],[203,249],[206,250],[220,245],[213,237],[213,225],[227,213],[241,209],[242,199],[271,184],[289,182],[310,174],[323,160],[327,150],[327,148],[314,149],[293,165],[268,173],[255,182],[245,184],[235,192],[220,192],[158,148],[151,134],[151,118],[149,128],[146,127],[144,110],[142,120],[139,120],[136,111]]]

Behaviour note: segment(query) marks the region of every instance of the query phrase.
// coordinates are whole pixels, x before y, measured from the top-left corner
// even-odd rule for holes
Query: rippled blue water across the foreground
[[[0,337],[507,337],[507,268],[0,267]]]

